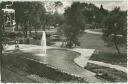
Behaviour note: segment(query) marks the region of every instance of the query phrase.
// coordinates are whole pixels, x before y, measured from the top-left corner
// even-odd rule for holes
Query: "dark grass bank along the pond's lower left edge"
[[[85,80],[71,76],[67,73],[63,73],[57,69],[53,69],[46,64],[41,64],[32,60],[22,58],[22,56],[32,56],[29,53],[9,53],[2,56],[2,66],[6,66],[9,69],[19,72],[19,70],[25,72],[24,74],[35,74],[40,77],[53,80],[55,82],[86,82]],[[22,73],[23,74],[23,73]],[[6,77],[5,77],[6,78]],[[48,83],[49,81],[47,81]]]

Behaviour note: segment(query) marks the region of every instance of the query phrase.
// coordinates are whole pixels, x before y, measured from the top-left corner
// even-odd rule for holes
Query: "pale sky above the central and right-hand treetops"
[[[62,1],[63,7],[58,9],[58,11],[60,13],[63,13],[64,9],[66,7],[70,7],[74,0],[60,0],[60,1]],[[100,7],[100,5],[102,4],[105,9],[108,9],[110,11],[114,9],[114,7],[116,6],[120,7],[121,10],[127,10],[127,0],[81,0],[81,2],[93,3],[97,7]]]

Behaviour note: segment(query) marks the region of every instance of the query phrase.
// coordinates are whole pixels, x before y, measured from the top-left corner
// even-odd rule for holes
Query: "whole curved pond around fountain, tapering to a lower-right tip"
[[[40,46],[23,46],[23,48],[20,47],[21,52],[18,56],[39,63],[47,64],[48,66],[53,67],[59,71],[84,78],[88,81],[101,81],[94,77],[94,73],[78,66],[74,62],[74,59],[80,56],[80,53],[62,48],[47,47],[47,56],[38,56],[41,49],[42,48]]]

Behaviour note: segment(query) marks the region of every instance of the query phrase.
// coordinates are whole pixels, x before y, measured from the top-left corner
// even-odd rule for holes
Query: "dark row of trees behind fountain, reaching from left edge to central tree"
[[[8,3],[2,2],[1,7],[5,8]],[[37,35],[38,29],[45,30],[46,26],[62,24],[63,17],[57,12],[57,8],[62,6],[62,3],[54,2],[49,6],[56,10],[55,13],[46,11],[44,2],[13,2],[10,8],[15,10],[16,30],[22,29],[24,36],[27,37],[28,31],[31,35],[33,29]]]

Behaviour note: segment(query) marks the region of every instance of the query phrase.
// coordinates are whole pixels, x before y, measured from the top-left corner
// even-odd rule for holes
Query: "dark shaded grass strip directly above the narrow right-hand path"
[[[101,62],[113,64],[113,65],[127,67],[127,54],[126,53],[119,56],[113,53],[101,52],[98,54],[93,54],[90,60],[101,61]]]

